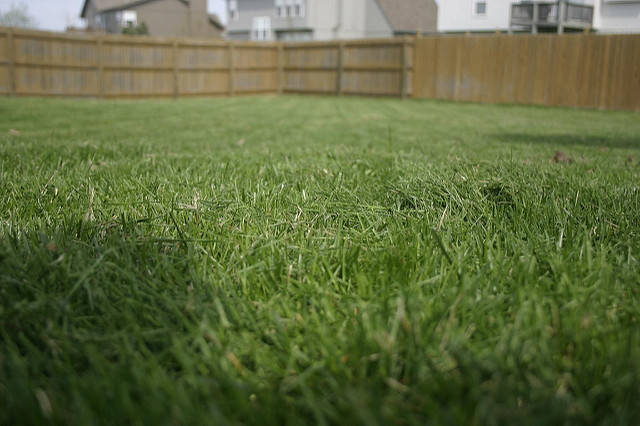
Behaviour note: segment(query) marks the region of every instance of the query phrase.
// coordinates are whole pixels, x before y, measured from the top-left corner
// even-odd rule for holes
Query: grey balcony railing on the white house
[[[593,22],[593,6],[570,2],[530,2],[511,5],[511,26],[563,28],[590,27]]]

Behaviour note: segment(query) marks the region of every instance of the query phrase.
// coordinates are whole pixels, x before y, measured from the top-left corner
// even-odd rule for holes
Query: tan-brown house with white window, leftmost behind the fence
[[[153,36],[221,38],[224,31],[207,0],[85,0],[80,16],[88,30],[111,34],[143,23]]]

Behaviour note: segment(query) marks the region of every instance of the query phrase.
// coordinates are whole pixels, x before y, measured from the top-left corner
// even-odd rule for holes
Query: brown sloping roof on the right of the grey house
[[[377,0],[396,32],[436,31],[438,6],[434,0]]]

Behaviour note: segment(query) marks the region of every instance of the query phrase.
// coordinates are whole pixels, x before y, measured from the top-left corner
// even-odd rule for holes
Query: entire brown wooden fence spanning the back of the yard
[[[327,94],[640,110],[640,35],[251,43],[0,28],[0,95]]]

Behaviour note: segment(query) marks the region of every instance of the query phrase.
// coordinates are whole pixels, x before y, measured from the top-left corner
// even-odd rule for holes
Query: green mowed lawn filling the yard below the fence
[[[639,424],[639,160],[626,112],[0,99],[0,423]]]

